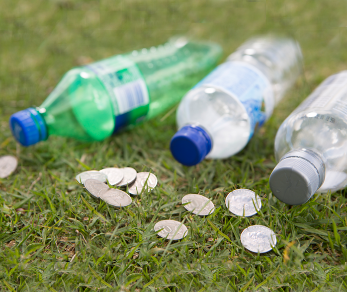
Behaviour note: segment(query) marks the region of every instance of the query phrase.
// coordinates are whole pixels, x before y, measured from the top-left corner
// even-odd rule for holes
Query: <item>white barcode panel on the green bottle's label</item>
[[[124,114],[134,108],[149,103],[147,86],[143,79],[113,88],[116,96],[119,114]]]

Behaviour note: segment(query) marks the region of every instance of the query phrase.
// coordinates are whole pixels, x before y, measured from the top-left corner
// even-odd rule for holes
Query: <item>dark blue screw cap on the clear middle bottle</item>
[[[183,165],[193,166],[204,160],[211,151],[212,140],[201,127],[188,125],[181,128],[170,142],[172,156]]]

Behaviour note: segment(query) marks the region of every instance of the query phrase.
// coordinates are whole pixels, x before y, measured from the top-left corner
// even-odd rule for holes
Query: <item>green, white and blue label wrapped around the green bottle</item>
[[[149,94],[140,69],[129,58],[116,55],[87,65],[107,89],[116,116],[115,132],[143,119],[149,109]]]

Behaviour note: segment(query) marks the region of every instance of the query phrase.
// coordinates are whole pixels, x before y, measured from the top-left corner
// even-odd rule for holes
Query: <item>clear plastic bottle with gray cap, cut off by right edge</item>
[[[282,123],[273,194],[290,205],[347,185],[347,70],[332,75]]]

